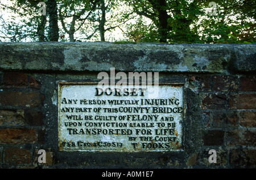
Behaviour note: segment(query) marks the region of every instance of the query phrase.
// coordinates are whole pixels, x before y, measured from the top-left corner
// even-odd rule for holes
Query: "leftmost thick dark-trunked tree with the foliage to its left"
[[[13,34],[15,39],[11,41],[20,41],[22,39],[31,39],[31,41],[58,41],[59,39],[59,27],[58,27],[58,17],[57,17],[57,3],[56,0],[47,0],[47,14],[39,14],[37,1],[26,1],[17,0],[14,1],[11,6],[4,6],[11,14],[15,14],[14,18],[11,19],[8,24],[10,26],[5,26],[7,34]],[[47,27],[47,16],[49,16],[49,23]],[[16,23],[16,18],[20,19],[19,23]],[[6,22],[7,23],[7,22]],[[10,31],[16,27],[15,31]],[[47,29],[47,31],[46,31]],[[6,36],[6,38],[9,38]]]

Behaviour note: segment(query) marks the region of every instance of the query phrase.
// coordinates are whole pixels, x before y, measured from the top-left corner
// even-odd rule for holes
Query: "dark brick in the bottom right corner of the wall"
[[[255,168],[256,150],[255,149],[232,149],[230,150],[230,166],[236,168]]]

